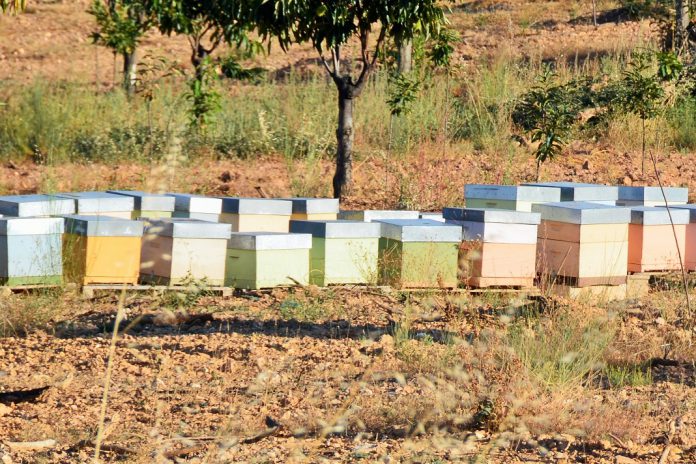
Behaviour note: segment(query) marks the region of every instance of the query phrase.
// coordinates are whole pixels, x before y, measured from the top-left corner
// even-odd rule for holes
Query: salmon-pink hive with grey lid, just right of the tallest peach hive
[[[628,226],[629,272],[680,270],[681,259],[684,259],[686,252],[689,216],[689,211],[685,209],[670,208],[668,212],[667,208],[652,206],[631,208],[631,224]]]

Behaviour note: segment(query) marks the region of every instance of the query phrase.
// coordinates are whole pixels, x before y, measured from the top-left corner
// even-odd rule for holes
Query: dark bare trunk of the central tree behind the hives
[[[336,173],[334,198],[345,196],[353,182],[353,95],[343,84],[338,89],[338,128],[336,129]]]

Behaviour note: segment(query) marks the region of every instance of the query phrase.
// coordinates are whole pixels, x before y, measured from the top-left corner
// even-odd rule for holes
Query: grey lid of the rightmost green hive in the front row
[[[460,242],[460,226],[430,219],[384,219],[377,221],[382,237],[400,242]]]

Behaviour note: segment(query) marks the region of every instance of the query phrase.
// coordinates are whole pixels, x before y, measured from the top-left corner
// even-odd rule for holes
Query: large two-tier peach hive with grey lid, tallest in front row
[[[623,285],[628,273],[628,208],[589,202],[534,205],[541,213],[537,271],[574,287]]]

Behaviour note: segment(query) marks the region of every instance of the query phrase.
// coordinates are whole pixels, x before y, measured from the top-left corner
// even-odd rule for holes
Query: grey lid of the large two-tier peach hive
[[[631,222],[630,208],[583,201],[541,203],[532,205],[532,211],[541,213],[541,219],[544,221],[570,224],[628,224]]]

